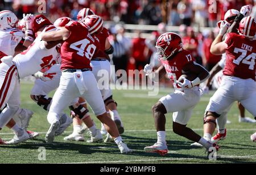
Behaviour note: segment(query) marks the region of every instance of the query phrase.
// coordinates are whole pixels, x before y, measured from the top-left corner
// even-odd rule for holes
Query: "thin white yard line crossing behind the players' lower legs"
[[[192,129],[194,131],[203,131],[203,128]],[[125,133],[133,132],[155,132],[156,130],[125,130]],[[172,131],[167,129],[166,131]],[[228,129],[228,131],[256,131],[256,129]],[[39,134],[46,134],[47,132],[38,132]],[[73,131],[64,131],[64,134],[71,134]],[[0,135],[13,135],[13,133],[0,133]]]

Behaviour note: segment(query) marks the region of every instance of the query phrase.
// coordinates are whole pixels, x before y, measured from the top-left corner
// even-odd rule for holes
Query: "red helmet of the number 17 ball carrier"
[[[156,53],[163,60],[168,59],[174,53],[183,49],[182,40],[179,35],[172,32],[163,33],[156,41]]]

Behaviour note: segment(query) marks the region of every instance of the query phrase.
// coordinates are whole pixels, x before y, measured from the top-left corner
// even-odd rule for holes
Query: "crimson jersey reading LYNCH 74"
[[[255,80],[256,40],[249,40],[236,33],[228,33],[225,39],[226,64],[223,74]]]

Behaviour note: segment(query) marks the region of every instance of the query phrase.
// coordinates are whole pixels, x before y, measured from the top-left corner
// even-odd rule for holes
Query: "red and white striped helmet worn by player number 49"
[[[88,15],[82,23],[88,28],[90,35],[96,35],[102,31],[104,22],[98,15]]]

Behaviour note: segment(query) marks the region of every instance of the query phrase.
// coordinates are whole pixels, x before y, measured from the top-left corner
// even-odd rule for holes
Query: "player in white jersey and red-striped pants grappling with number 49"
[[[44,15],[35,16],[32,26],[35,35],[38,36],[33,44],[14,58],[9,56],[1,59],[3,63],[0,64],[0,81],[2,82],[0,107],[3,108],[6,103],[8,104],[7,108],[1,113],[1,125],[9,122],[19,109],[19,79],[35,74],[37,71],[51,67],[57,63],[59,53],[56,47],[48,49],[51,43],[46,44],[46,42],[42,41],[40,38],[44,32],[49,32],[56,28]],[[14,138],[7,143],[16,144],[28,138],[29,136],[26,132],[20,132],[15,134]]]

